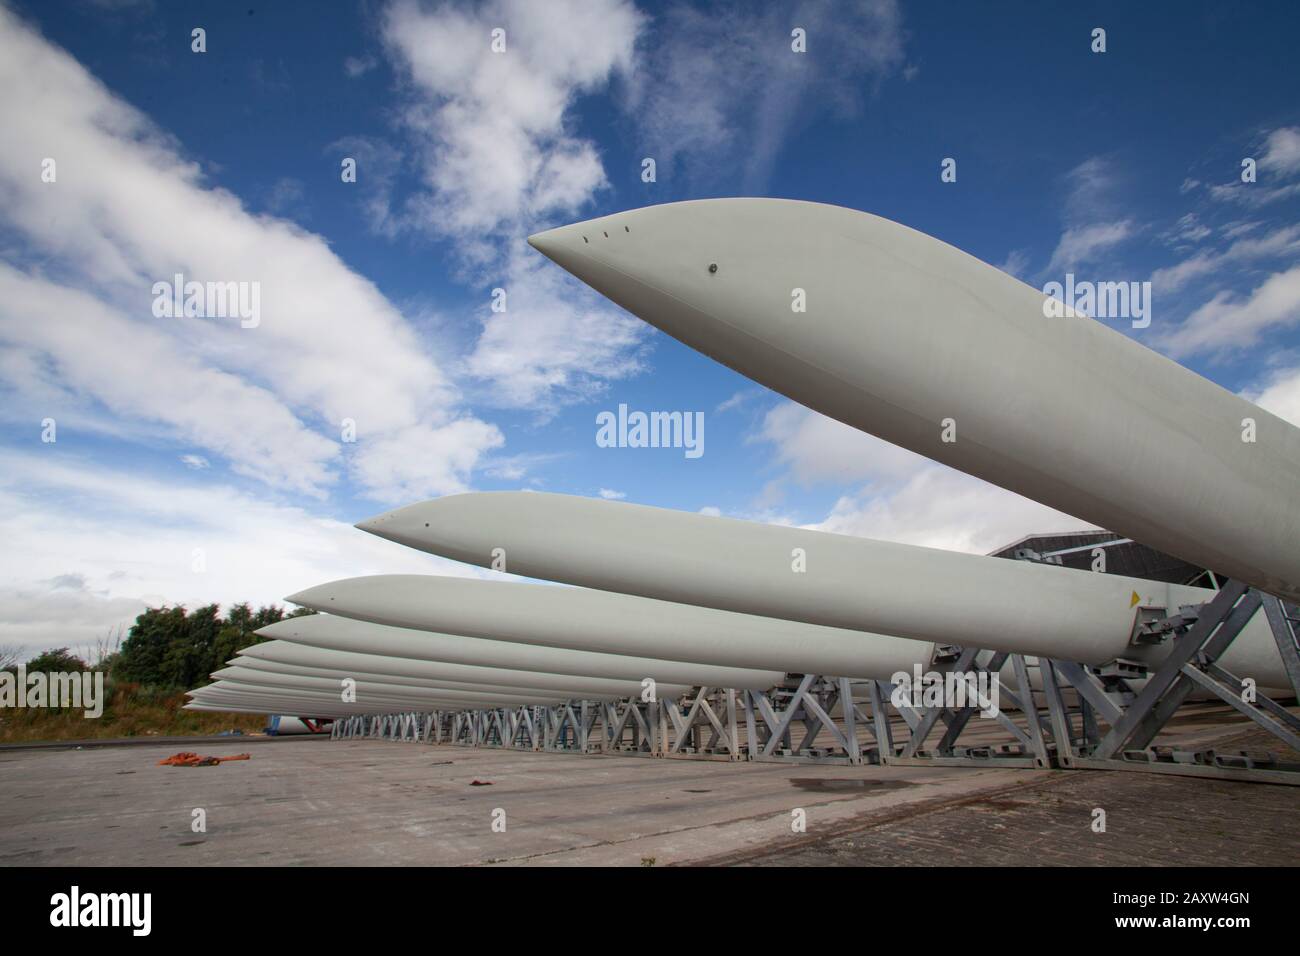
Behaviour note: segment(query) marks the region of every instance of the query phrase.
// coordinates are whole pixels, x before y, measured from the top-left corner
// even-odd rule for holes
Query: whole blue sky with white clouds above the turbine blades
[[[351,528],[469,489],[971,551],[1086,527],[789,403],[524,239],[703,196],[864,209],[1037,287],[1150,281],[1152,325],[1115,328],[1296,421],[1297,20],[1282,3],[0,4],[0,644],[82,648],[147,604],[472,574]],[[153,316],[177,271],[259,282],[259,326]],[[598,447],[619,403],[703,412],[705,454]]]

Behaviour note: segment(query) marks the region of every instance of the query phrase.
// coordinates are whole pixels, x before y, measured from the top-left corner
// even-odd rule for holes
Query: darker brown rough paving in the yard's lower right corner
[[[1257,735],[1231,743],[1266,749]],[[1226,745],[1223,749],[1228,749]],[[1092,829],[1105,813],[1105,831]],[[754,866],[1296,866],[1300,788],[1126,771],[1054,773],[836,832],[701,862]]]

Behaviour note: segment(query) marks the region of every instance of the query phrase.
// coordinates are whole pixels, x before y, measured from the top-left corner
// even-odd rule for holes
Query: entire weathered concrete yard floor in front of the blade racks
[[[199,749],[252,758],[157,766],[177,749],[0,753],[0,865],[1300,862],[1295,787],[384,740],[226,739]]]

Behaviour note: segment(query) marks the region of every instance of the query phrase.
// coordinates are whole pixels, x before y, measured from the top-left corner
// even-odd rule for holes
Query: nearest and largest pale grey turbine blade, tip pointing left
[[[1300,601],[1300,428],[1140,345],[1154,328],[1126,336],[933,237],[820,203],[666,203],[529,243],[809,408]]]

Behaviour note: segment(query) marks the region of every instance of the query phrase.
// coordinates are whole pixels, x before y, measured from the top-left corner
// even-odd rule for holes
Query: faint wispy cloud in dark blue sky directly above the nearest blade
[[[792,51],[796,26],[806,31],[806,53]],[[863,91],[904,68],[904,43],[893,0],[707,10],[677,3],[653,26],[628,111],[660,181],[680,160],[699,159],[688,178],[738,164],[744,189],[754,191],[792,129],[818,109],[854,112]]]

